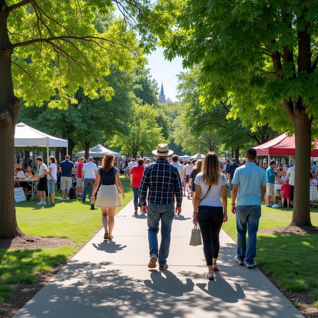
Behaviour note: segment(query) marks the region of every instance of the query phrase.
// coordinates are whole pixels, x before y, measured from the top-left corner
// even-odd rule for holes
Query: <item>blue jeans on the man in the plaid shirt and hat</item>
[[[167,264],[167,257],[170,248],[171,225],[174,217],[175,205],[172,204],[151,204],[148,203],[148,241],[150,256],[155,254],[158,257],[159,265]],[[161,244],[158,252],[159,221],[161,220]]]

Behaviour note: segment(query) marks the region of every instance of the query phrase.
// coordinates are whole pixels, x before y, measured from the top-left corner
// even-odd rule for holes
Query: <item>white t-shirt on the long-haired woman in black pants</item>
[[[209,190],[209,185],[206,185],[205,183],[203,183],[201,173],[199,173],[196,176],[194,183],[201,187],[201,198],[203,198],[206,195],[206,197],[200,201],[199,205],[222,206],[222,201],[220,198],[221,188],[223,185],[227,184],[225,174],[223,174],[223,176],[224,176],[223,179],[221,176],[219,176],[218,185],[212,185],[207,195],[206,193]]]

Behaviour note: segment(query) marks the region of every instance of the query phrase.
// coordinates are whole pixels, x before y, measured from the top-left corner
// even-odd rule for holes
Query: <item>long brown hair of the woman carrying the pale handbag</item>
[[[208,152],[203,161],[201,173],[202,180],[206,185],[218,185],[219,176],[224,180],[224,174],[221,173],[218,155],[211,151]]]

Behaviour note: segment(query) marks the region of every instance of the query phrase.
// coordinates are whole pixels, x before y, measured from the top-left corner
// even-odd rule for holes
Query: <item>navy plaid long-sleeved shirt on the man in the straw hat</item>
[[[165,159],[158,159],[147,166],[143,172],[139,196],[142,205],[152,204],[182,204],[182,185],[178,170]]]

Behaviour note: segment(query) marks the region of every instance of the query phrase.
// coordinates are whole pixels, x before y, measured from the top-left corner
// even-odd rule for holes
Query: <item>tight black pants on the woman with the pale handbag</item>
[[[210,266],[213,264],[212,258],[218,258],[220,249],[219,234],[223,223],[223,207],[200,205],[197,217],[206,265]]]

